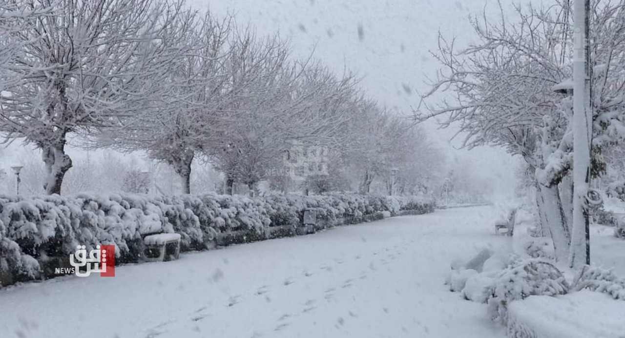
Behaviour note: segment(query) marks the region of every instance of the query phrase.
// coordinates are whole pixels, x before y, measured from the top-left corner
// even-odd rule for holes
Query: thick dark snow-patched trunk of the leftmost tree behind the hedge
[[[63,177],[72,167],[72,159],[65,154],[65,140],[63,139],[58,144],[44,146],[41,157],[46,164],[46,181],[43,189],[48,195],[61,194]]]

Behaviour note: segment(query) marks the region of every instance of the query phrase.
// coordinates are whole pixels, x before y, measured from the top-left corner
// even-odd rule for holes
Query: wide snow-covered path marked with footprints
[[[490,207],[122,266],[0,291],[0,337],[504,337],[443,285],[492,235]]]

